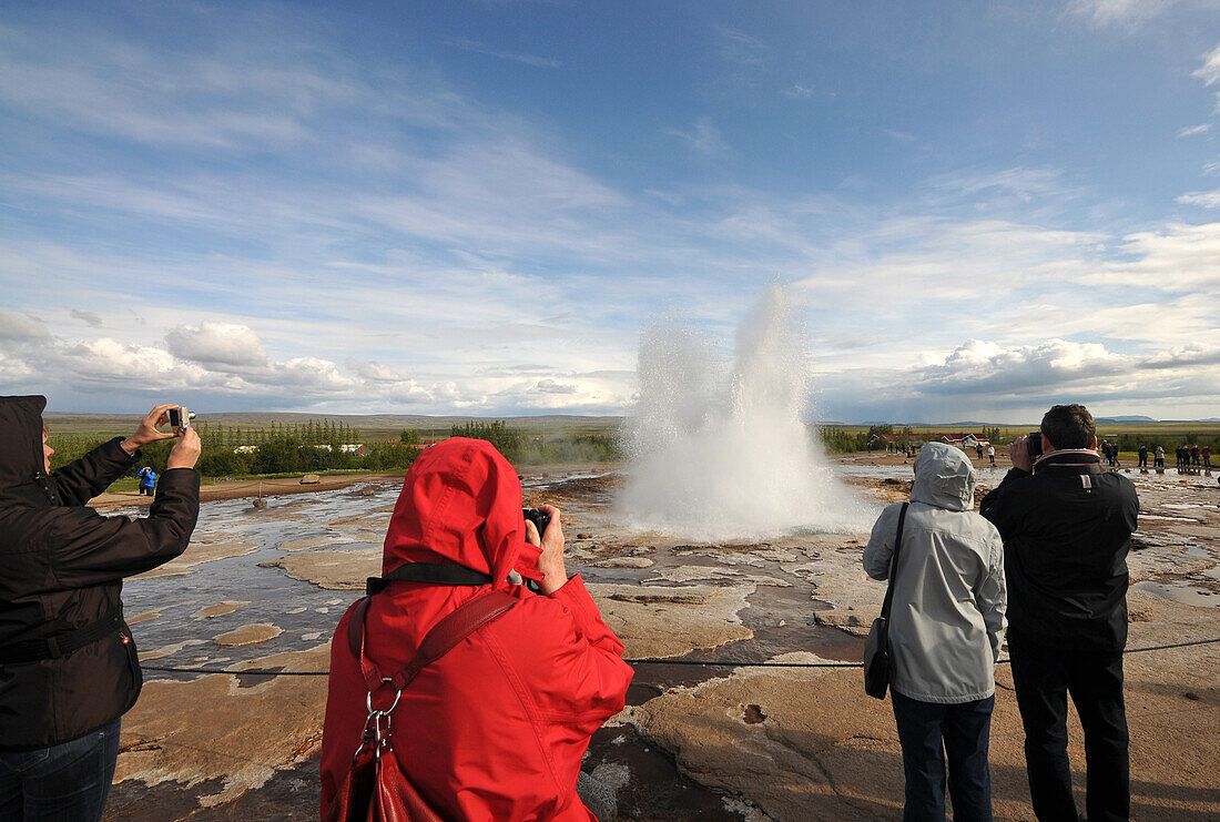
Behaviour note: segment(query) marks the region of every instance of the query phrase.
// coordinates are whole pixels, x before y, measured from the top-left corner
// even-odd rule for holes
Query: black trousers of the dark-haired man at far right
[[[1085,729],[1088,822],[1131,816],[1122,654],[1049,649],[1009,634],[1016,706],[1025,724],[1025,770],[1041,822],[1077,822],[1068,762],[1068,695]]]

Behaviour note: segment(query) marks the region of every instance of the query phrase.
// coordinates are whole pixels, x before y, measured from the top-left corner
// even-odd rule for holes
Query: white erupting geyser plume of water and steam
[[[648,332],[626,431],[627,523],[705,540],[867,529],[876,507],[838,482],[803,421],[805,351],[778,285],[738,329],[733,363],[681,326]]]

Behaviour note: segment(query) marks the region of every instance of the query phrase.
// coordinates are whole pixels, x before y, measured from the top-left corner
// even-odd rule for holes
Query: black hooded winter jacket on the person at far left
[[[139,452],[128,456],[116,438],[46,476],[45,406],[41,396],[0,396],[0,750],[6,751],[83,737],[135,704],[143,678],[122,617],[123,577],[182,554],[199,517],[199,474],[192,468],[161,476],[146,520],[107,518],[85,507]]]

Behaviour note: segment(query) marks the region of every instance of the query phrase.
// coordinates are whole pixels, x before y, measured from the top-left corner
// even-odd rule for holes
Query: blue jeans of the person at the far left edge
[[[0,751],[0,821],[98,822],[115,777],[118,724],[50,748]]]

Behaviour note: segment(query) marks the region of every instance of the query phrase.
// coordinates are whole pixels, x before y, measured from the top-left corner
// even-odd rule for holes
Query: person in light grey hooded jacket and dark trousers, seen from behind
[[[992,818],[987,749],[1005,624],[1004,548],[996,526],[971,511],[974,493],[965,454],[942,443],[919,452],[889,617],[906,822],[944,820],[946,752],[953,818]],[[881,512],[864,549],[874,579],[889,576],[900,509]]]

